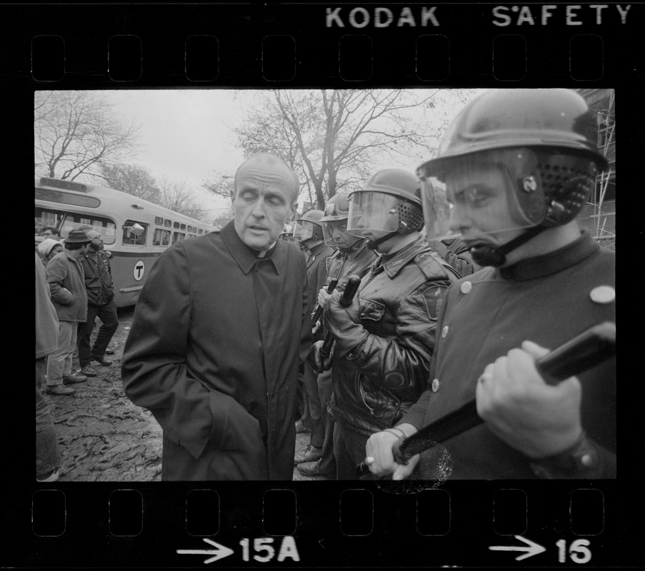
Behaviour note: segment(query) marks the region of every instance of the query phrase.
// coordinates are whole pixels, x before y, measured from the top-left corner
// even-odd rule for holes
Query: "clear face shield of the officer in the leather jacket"
[[[350,196],[347,231],[359,238],[377,240],[399,231],[399,199],[381,192],[357,192]]]

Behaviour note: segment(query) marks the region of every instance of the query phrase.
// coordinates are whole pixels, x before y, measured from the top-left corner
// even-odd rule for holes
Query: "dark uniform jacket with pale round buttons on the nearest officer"
[[[417,428],[475,398],[489,363],[531,340],[556,348],[581,331],[615,322],[615,256],[584,234],[560,250],[510,268],[484,268],[453,285],[437,325],[429,389],[401,422]],[[579,375],[582,426],[616,450],[616,362]],[[486,425],[444,443],[452,478],[531,478],[527,459]]]

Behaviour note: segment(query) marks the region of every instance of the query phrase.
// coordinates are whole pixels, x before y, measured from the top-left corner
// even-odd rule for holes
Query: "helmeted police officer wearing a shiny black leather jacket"
[[[419,234],[420,192],[414,174],[389,168],[350,193],[347,231],[381,256],[349,307],[340,292],[319,293],[335,340],[329,413],[339,480],[356,478],[369,435],[391,430],[425,388],[439,301],[454,273]]]

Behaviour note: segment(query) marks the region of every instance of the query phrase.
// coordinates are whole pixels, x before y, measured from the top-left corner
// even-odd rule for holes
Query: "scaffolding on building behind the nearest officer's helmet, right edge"
[[[580,89],[598,121],[598,149],[609,167],[596,178],[581,223],[601,248],[616,249],[616,114],[614,89]]]

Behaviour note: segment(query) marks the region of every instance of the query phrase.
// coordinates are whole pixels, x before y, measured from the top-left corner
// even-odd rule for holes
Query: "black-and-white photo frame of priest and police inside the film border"
[[[59,319],[42,383],[57,438],[37,479],[352,480],[373,477],[370,464],[395,479],[568,477],[551,457],[570,448],[580,474],[615,477],[615,361],[598,350],[611,331],[591,341],[597,363],[568,356],[580,382],[549,377],[531,394],[544,403],[511,400],[520,418],[494,394],[544,348],[615,327],[614,109],[611,89],[36,91],[36,251]],[[504,166],[469,181],[479,161]],[[546,263],[569,242],[571,262]],[[274,248],[300,263],[246,283],[256,263],[239,256]],[[596,256],[607,261],[551,282]],[[79,267],[84,283],[71,283]],[[351,276],[358,298],[341,308]],[[453,303],[481,300],[451,316],[456,281]],[[519,363],[498,361],[511,350]],[[414,474],[416,455],[396,465],[394,443],[475,395],[477,426],[449,423],[463,434]]]

